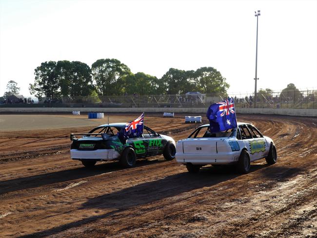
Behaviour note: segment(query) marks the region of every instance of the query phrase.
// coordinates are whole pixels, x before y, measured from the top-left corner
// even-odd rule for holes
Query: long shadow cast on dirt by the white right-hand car
[[[269,165],[267,164],[252,165],[249,175],[252,175],[253,172],[258,170],[266,170],[265,168],[268,166]],[[269,169],[270,168],[268,168],[268,170]],[[145,205],[164,198],[171,198],[181,193],[190,192],[203,187],[212,187],[218,183],[234,179],[238,176],[241,175],[235,172],[234,167],[206,167],[202,168],[198,174],[182,172],[155,181],[141,183],[117,192],[101,195],[96,198],[90,198],[87,202],[83,203],[80,208],[111,208],[115,209],[115,211],[108,212],[100,216],[85,218],[23,237],[44,237],[58,234],[59,232],[73,227],[79,227],[80,225],[94,222],[99,219],[116,216],[118,213],[128,210],[134,206]]]

